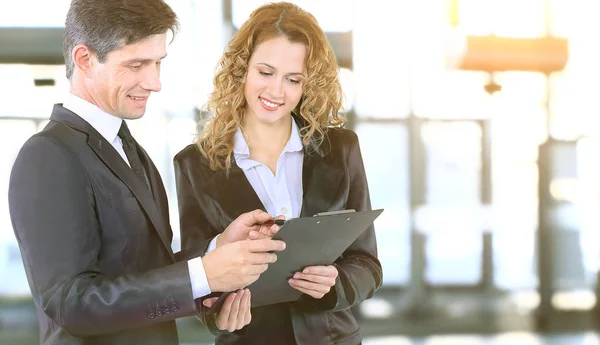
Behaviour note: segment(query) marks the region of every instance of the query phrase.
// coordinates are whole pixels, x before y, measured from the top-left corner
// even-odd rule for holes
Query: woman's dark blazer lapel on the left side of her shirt
[[[206,184],[205,191],[218,204],[223,215],[227,216],[228,222],[252,210],[261,209],[266,212],[244,171],[235,163],[229,171],[229,176],[221,170],[215,172]]]

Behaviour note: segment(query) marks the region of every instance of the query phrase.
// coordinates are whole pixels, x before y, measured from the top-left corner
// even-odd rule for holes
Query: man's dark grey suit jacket
[[[50,120],[9,187],[40,343],[178,344],[174,320],[196,307],[158,170],[138,145],[149,191],[82,118],[57,104]]]

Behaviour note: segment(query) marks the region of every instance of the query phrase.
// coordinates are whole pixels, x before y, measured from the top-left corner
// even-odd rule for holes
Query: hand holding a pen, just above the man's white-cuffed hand
[[[227,243],[246,239],[271,238],[279,226],[271,221],[273,217],[261,210],[241,214],[217,237],[217,248]]]

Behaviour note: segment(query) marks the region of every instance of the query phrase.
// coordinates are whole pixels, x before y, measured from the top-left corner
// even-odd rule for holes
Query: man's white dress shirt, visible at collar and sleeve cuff
[[[118,133],[121,128],[122,119],[106,113],[96,105],[79,98],[72,93],[68,93],[65,97],[63,107],[77,114],[79,117],[89,123],[106,141],[108,141],[117,150],[125,163],[129,165],[127,155],[123,151],[123,143],[119,138]],[[194,299],[208,295],[210,287],[208,279],[202,264],[202,258],[194,258],[188,261],[190,271],[190,280],[192,282],[192,293]]]

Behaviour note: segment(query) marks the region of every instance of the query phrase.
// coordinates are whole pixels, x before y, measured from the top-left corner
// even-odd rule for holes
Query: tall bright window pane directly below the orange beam
[[[502,91],[492,100],[494,281],[504,289],[537,286],[538,145],[546,138],[546,78],[497,74]]]

